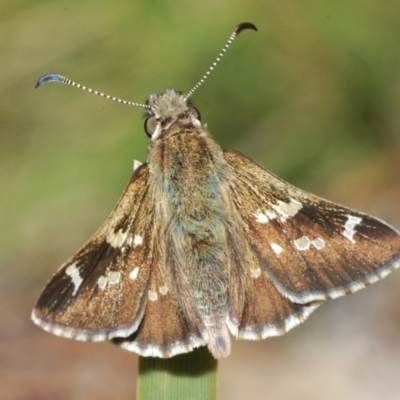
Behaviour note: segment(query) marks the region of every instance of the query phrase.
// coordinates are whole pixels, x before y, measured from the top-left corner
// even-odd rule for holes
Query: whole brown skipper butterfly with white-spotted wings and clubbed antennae
[[[147,161],[114,211],[50,279],[33,321],[58,336],[110,340],[168,358],[231,339],[282,335],[325,300],[400,265],[400,236],[377,218],[302,191],[212,139],[190,95],[132,103],[57,74],[41,77],[146,109]]]

